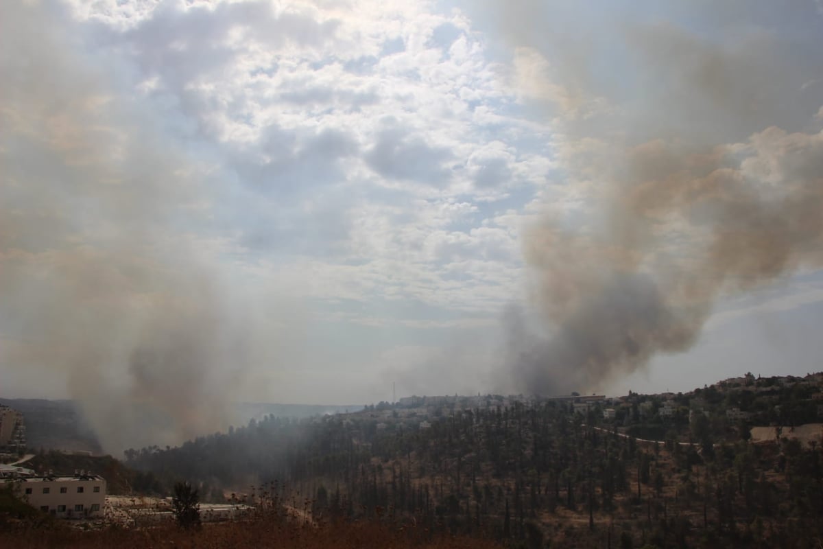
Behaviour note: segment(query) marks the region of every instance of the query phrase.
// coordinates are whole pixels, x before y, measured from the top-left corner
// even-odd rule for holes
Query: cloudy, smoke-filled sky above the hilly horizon
[[[5,398],[179,436],[821,370],[820,2],[3,12]]]

